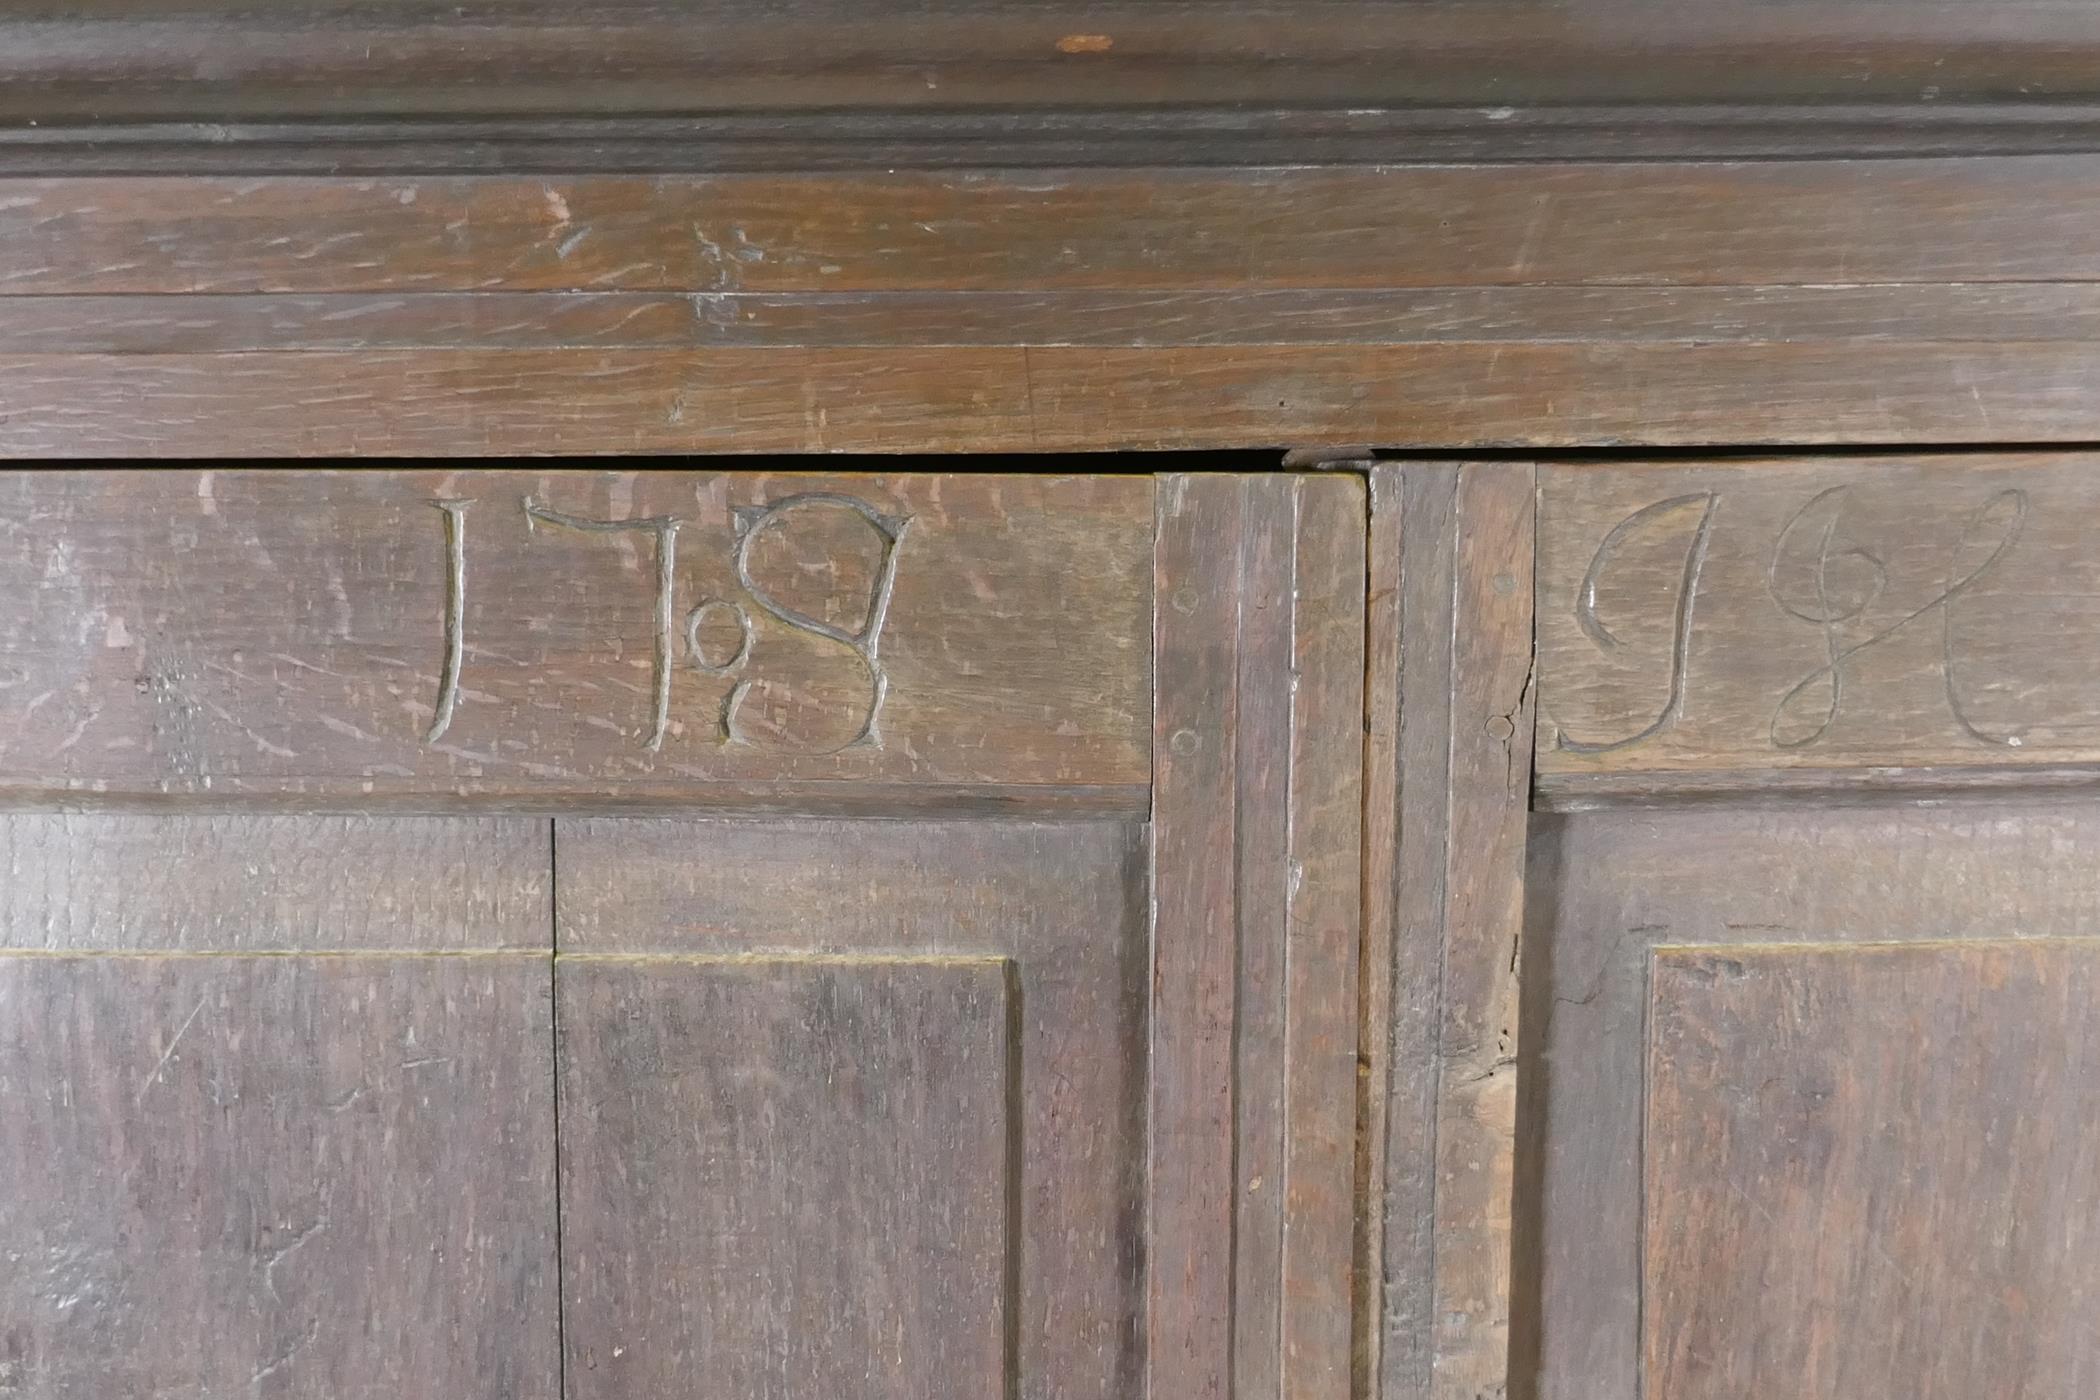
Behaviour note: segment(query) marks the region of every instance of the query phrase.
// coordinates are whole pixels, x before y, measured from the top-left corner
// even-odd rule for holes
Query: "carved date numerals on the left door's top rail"
[[[437,743],[452,728],[460,707],[462,670],[466,653],[466,510],[472,502],[433,500],[445,518],[445,619],[443,619],[443,661],[439,667],[437,703],[430,726],[424,730],[426,743]],[[649,751],[664,747],[670,735],[672,684],[680,661],[701,676],[731,678],[722,697],[716,739],[724,745],[750,743],[739,724],[752,680],[743,676],[752,659],[756,628],[743,602],[733,598],[706,596],[685,613],[682,625],[674,621],[678,588],[678,531],[687,523],[672,514],[594,518],[554,510],[552,506],[523,495],[519,506],[525,512],[529,531],[554,529],[582,535],[636,535],[649,542],[653,592],[649,596],[653,617],[653,659],[649,680],[649,722],[640,745]],[[813,516],[842,516],[859,521],[878,542],[874,581],[857,625],[840,625],[817,617],[811,611],[781,602],[754,577],[752,548],[769,531],[792,531]],[[764,506],[739,506],[733,512],[735,544],[731,546],[731,567],[743,596],[762,615],[781,623],[790,632],[823,638],[842,646],[867,674],[865,707],[853,735],[830,751],[850,747],[882,747],[882,703],[888,699],[890,678],[882,667],[882,628],[888,621],[890,596],[897,588],[897,554],[905,539],[911,516],[884,514],[863,500],[834,491],[804,491],[785,495]],[[710,657],[704,630],[712,619],[722,619],[733,630],[733,644],[727,655]]]

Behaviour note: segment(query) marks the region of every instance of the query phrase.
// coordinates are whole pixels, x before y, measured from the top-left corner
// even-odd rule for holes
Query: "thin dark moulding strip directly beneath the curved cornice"
[[[1220,170],[2100,151],[2090,101],[788,109],[0,126],[0,176]]]

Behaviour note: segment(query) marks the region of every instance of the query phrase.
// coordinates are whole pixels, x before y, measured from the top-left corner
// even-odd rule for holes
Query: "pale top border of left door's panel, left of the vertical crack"
[[[552,947],[548,827],[519,816],[0,814],[0,947]]]

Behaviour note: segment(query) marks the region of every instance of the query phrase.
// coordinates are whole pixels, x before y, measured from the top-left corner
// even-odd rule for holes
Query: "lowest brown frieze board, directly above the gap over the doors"
[[[0,458],[2079,443],[2090,342],[0,357]]]

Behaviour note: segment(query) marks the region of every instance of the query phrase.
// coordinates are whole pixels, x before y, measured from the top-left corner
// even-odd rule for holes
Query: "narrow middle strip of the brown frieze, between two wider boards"
[[[32,288],[34,290],[34,288]],[[155,292],[4,302],[6,355],[706,351],[855,346],[2060,344],[2100,334],[2100,285],[1128,288],[874,292]],[[1438,363],[1424,357],[1424,363]]]

